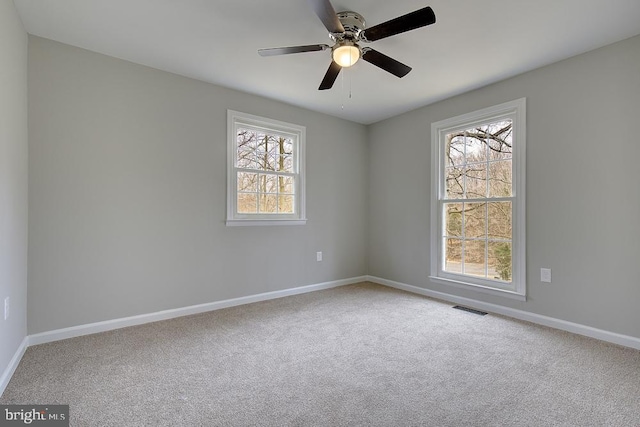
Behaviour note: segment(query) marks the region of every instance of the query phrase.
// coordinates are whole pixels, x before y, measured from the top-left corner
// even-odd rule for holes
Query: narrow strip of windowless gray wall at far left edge
[[[27,33],[0,0],[0,375],[27,335],[27,153]]]

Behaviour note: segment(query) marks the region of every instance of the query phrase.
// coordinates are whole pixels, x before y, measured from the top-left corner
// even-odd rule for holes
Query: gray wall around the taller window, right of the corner
[[[431,123],[520,97],[528,300],[431,283]],[[640,36],[372,125],[369,274],[640,337],[639,118]]]

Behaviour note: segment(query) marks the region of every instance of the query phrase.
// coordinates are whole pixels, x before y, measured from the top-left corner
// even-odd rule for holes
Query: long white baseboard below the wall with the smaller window
[[[246,297],[233,298],[223,301],[215,301],[206,304],[192,305],[189,307],[176,308],[172,310],[158,311],[155,313],[141,314],[138,316],[124,317],[120,319],[106,320],[104,322],[89,323],[86,325],[72,326],[70,328],[56,329],[53,331],[33,334],[28,337],[28,345],[45,344],[48,342],[74,338],[83,335],[106,332],[114,329],[126,328],[129,326],[142,325],[145,323],[157,322],[160,320],[173,319],[176,317],[189,316],[192,314],[205,313],[207,311],[220,310],[228,307],[235,307],[243,304],[267,301],[276,298],[288,297],[291,295],[304,294],[307,292],[320,291],[323,289],[336,288],[339,286],[351,285],[366,281],[366,276],[352,277],[350,279],[334,280],[332,282],[318,283],[315,285],[301,286],[298,288],[284,289],[281,291],[266,292]]]

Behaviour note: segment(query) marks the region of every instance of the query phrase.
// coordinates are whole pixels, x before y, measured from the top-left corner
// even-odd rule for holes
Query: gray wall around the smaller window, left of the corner
[[[366,127],[29,43],[30,334],[366,274]],[[307,225],[225,226],[227,109],[307,127]]]

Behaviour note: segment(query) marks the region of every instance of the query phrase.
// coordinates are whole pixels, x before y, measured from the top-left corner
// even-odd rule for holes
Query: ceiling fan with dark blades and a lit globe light
[[[338,78],[338,74],[340,74],[340,70],[352,66],[360,57],[397,77],[406,76],[411,71],[411,67],[370,47],[361,47],[359,43],[374,42],[436,22],[436,15],[433,13],[433,9],[427,6],[382,24],[366,28],[365,20],[359,13],[350,11],[336,13],[329,0],[309,0],[309,3],[318,18],[320,18],[320,21],[329,30],[329,38],[334,42],[333,46],[314,44],[276,47],[259,49],[258,54],[261,56],[273,56],[331,49],[331,65],[322,83],[320,83],[319,90],[331,89]]]

